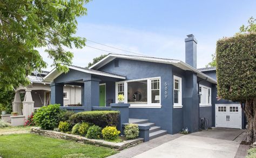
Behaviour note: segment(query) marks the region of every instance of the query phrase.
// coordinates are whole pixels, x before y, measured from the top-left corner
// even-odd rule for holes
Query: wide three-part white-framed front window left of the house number
[[[116,91],[131,107],[161,107],[160,77],[122,81],[116,83]]]

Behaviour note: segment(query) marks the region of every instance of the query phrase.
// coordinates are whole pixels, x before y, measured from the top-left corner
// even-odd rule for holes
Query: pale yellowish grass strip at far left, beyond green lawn
[[[15,134],[15,133],[29,133],[31,127],[33,126],[10,126],[10,127],[0,128],[0,135]]]

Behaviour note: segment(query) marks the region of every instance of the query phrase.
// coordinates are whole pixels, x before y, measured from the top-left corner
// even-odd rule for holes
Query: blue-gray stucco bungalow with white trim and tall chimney
[[[163,133],[175,134],[184,128],[196,132],[202,125],[244,128],[240,106],[217,100],[215,68],[197,69],[197,40],[193,35],[185,39],[185,57],[184,63],[109,54],[90,68],[70,66],[66,74],[53,69],[44,79],[52,81],[51,104],[63,106],[64,85],[81,86],[82,107],[65,107],[75,111],[109,107],[118,102],[118,94],[124,94],[124,102],[130,104],[129,118],[152,122],[152,132],[161,129]],[[228,122],[239,115],[239,125]]]

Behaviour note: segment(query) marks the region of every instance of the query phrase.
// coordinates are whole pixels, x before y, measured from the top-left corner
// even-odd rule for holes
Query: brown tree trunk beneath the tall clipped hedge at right
[[[253,126],[256,121],[254,118],[254,110],[253,110],[253,99],[246,99],[245,101],[245,116],[247,119],[247,139],[246,142],[252,143],[254,140],[254,128]],[[255,130],[256,131],[256,130]]]

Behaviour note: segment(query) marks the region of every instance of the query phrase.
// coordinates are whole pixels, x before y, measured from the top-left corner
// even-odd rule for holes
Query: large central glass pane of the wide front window
[[[128,102],[147,104],[147,80],[127,83]]]

